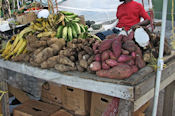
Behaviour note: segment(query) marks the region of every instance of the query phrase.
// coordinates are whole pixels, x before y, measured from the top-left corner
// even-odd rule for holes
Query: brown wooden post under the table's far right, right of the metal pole
[[[175,81],[165,88],[163,116],[172,116]]]

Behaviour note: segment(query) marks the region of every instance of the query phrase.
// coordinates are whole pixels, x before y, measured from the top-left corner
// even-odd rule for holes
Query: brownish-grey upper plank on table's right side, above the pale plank
[[[167,64],[167,67],[162,71],[161,81],[165,80],[175,72],[175,62],[171,61]],[[147,79],[146,79],[147,78]],[[147,91],[154,87],[156,74],[152,72],[145,77],[142,83],[135,86],[134,99],[137,100],[139,97],[144,95]],[[175,77],[174,77],[175,78]]]

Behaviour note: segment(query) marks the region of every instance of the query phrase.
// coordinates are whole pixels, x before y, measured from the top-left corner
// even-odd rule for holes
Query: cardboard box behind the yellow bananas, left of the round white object
[[[19,22],[22,25],[30,23],[34,21],[36,18],[37,18],[36,14],[32,12],[25,13],[24,15],[16,16],[17,22]]]

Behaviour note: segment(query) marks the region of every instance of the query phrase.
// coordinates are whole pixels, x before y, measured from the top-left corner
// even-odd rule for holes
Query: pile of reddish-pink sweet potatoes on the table
[[[95,57],[90,69],[100,77],[125,79],[145,66],[142,51],[133,40],[133,33],[95,43],[93,51]]]

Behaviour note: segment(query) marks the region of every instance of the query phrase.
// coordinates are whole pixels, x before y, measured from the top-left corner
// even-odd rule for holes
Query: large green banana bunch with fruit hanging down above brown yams
[[[57,29],[57,38],[64,38],[71,41],[73,38],[85,39],[87,37],[87,27],[77,22],[69,22],[68,25],[60,25]]]

